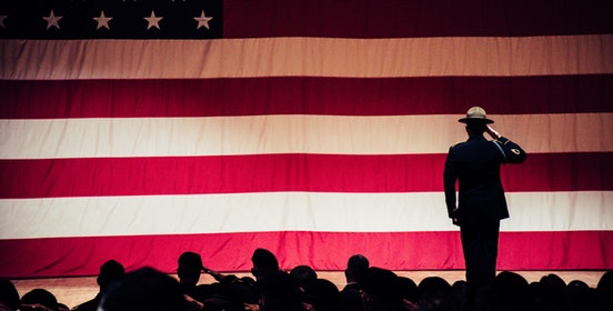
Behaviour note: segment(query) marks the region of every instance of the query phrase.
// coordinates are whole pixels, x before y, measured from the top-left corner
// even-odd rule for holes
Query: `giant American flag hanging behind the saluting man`
[[[0,275],[463,269],[472,106],[529,153],[499,268],[613,268],[607,0],[1,1]]]

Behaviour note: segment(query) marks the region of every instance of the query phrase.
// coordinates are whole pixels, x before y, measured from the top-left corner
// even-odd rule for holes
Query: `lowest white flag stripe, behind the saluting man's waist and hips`
[[[613,192],[508,193],[503,231],[613,230]],[[259,231],[452,231],[441,192],[0,200],[0,239]],[[32,225],[36,224],[36,225]]]

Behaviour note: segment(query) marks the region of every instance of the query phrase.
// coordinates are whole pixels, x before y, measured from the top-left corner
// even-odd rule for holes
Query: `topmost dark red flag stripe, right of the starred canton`
[[[607,0],[224,1],[223,36],[403,38],[612,33],[609,12]]]

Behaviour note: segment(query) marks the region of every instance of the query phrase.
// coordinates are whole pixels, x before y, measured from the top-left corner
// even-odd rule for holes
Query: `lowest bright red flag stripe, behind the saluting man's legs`
[[[502,232],[498,268],[606,270],[613,268],[607,261],[613,248],[602,245],[611,244],[613,231]],[[175,272],[177,259],[187,250],[202,254],[204,265],[211,269],[249,271],[255,248],[274,252],[284,269],[309,264],[316,270],[343,270],[354,253],[366,255],[372,265],[392,270],[464,269],[456,231],[245,232],[0,240],[0,275],[96,275],[108,259],[122,262],[128,270],[151,265]]]

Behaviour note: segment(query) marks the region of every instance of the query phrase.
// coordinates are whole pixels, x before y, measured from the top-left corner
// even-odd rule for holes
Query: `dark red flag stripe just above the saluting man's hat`
[[[613,111],[613,74],[1,81],[0,93],[2,119],[581,113]]]

